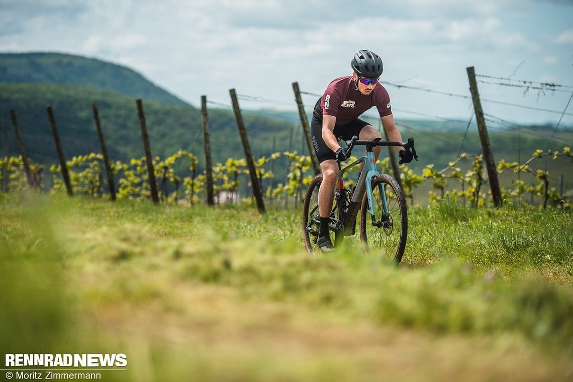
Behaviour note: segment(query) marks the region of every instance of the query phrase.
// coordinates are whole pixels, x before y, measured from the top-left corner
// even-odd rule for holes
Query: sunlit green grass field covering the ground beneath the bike
[[[403,264],[296,209],[0,196],[0,347],[109,380],[570,380],[571,212],[411,209]]]

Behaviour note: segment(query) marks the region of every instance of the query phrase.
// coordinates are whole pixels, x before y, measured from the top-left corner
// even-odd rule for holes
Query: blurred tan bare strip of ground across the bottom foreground
[[[573,365],[503,337],[437,336],[180,287],[139,305],[92,306],[92,330],[126,348],[132,380],[566,381]],[[176,303],[174,303],[176,301]]]

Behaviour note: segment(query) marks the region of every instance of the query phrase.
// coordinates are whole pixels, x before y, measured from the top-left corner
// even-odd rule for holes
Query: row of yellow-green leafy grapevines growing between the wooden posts
[[[511,173],[513,181],[511,188],[503,188],[503,199],[507,202],[531,202],[547,208],[570,208],[570,197],[563,189],[550,186],[547,171],[536,168],[535,161],[544,157],[551,157],[555,161],[573,160],[570,147],[564,147],[561,152],[541,150],[532,153],[532,157],[524,163],[506,162],[501,160],[497,164],[500,174]],[[145,200],[150,198],[150,185],[146,158],[131,159],[128,163],[116,161],[111,164],[113,176],[117,180],[117,198]],[[277,161],[288,161],[288,174],[286,180],[279,182],[274,179],[273,166]],[[355,159],[355,158],[354,158]],[[187,202],[190,205],[205,201],[206,174],[197,171],[198,158],[193,153],[179,150],[170,157],[153,159],[155,178],[158,182],[160,199],[162,202]],[[469,163],[469,169],[463,171],[462,164]],[[256,161],[257,178],[261,184],[266,184],[265,198],[280,203],[291,200],[295,204],[301,200],[306,186],[312,180],[311,159],[308,155],[298,155],[296,152],[274,153],[270,157],[261,157]],[[383,172],[393,173],[388,158],[378,161]],[[73,192],[89,197],[109,197],[105,190],[109,185],[104,181],[103,155],[91,153],[73,157],[66,162],[70,174]],[[41,188],[44,168],[37,163],[30,166],[30,177],[26,171],[21,157],[2,158],[2,184],[9,192],[17,192],[26,188]],[[53,186],[51,193],[65,192],[65,185],[61,180],[61,167],[52,165],[49,168],[52,174]],[[217,163],[213,167],[214,193],[219,203],[252,202],[252,193],[249,192],[249,181],[246,175],[249,170],[245,159],[229,158],[225,163]],[[395,174],[395,173],[394,173]],[[417,186],[430,184],[429,201],[453,200],[463,205],[484,205],[491,201],[487,191],[487,179],[484,176],[484,166],[481,155],[461,154],[444,169],[436,170],[433,165],[427,165],[421,174],[415,174],[407,165],[399,166],[399,178],[402,181],[406,196],[413,200],[413,193]],[[525,174],[523,180],[520,174]],[[527,175],[527,177],[526,177]],[[358,178],[357,174],[348,180],[348,186]],[[528,182],[534,179],[535,182]],[[243,184],[241,184],[241,181]],[[454,182],[456,185],[452,185]],[[447,188],[447,189],[446,189]],[[249,196],[250,195],[250,196]]]

